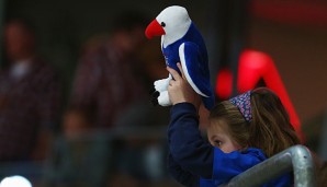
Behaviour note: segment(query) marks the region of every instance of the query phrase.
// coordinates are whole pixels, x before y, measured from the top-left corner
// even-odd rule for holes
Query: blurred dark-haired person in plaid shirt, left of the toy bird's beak
[[[71,105],[94,110],[97,128],[113,127],[117,116],[147,96],[138,58],[147,23],[138,12],[123,13],[114,21],[111,37],[100,37],[81,57]]]

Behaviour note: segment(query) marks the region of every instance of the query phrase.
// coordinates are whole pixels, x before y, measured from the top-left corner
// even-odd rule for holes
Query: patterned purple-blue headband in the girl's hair
[[[246,121],[250,122],[252,120],[251,91],[237,95],[230,98],[229,102],[239,109]]]

